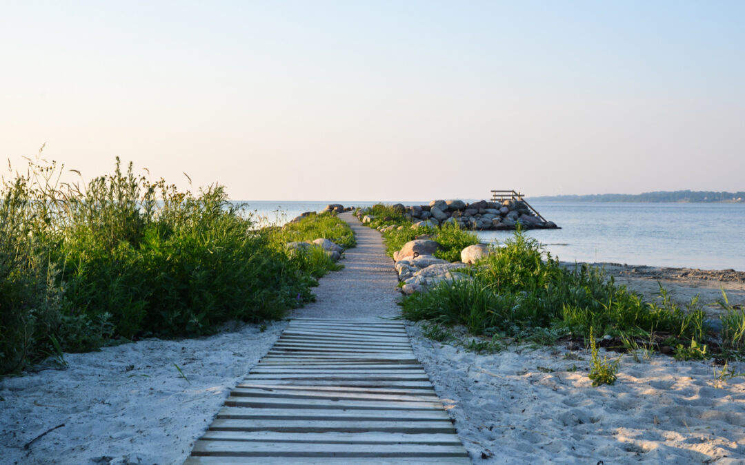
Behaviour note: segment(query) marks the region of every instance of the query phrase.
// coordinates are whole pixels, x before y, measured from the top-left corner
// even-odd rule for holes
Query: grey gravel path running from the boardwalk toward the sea
[[[351,212],[339,217],[357,236],[357,247],[344,252],[344,269],[331,272],[314,289],[317,300],[291,312],[290,318],[375,318],[401,314],[396,301],[401,295],[393,260],[385,254],[378,231],[361,225]]]

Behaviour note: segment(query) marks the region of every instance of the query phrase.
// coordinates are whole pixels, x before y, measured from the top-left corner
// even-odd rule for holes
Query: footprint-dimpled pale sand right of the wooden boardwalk
[[[477,355],[408,330],[475,463],[745,463],[745,377],[715,388],[711,362],[624,356],[615,385],[593,388],[585,351]]]

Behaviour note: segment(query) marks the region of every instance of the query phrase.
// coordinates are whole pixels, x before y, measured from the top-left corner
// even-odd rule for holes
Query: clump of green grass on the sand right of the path
[[[489,335],[551,330],[586,337],[594,328],[609,336],[648,338],[656,333],[684,347],[705,338],[704,313],[696,301],[682,309],[661,289],[656,300],[645,302],[602,269],[559,266],[522,231],[468,272],[470,280],[440,283],[405,298],[405,317],[464,324],[472,333]]]

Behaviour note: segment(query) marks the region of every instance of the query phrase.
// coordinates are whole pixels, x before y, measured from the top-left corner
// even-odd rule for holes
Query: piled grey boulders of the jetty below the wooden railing
[[[404,214],[417,226],[438,226],[448,223],[460,228],[478,231],[512,230],[520,225],[523,229],[556,229],[553,221],[544,221],[521,200],[504,200],[503,202],[466,203],[463,200],[433,200],[429,205],[402,205],[392,207]],[[373,221],[368,209],[358,212],[363,223]]]

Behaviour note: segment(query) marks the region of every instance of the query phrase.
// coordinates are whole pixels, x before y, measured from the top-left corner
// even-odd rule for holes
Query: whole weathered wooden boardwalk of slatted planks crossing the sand
[[[186,464],[470,464],[404,325],[298,318]]]

